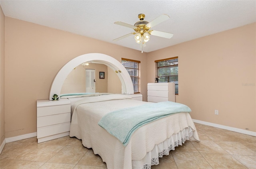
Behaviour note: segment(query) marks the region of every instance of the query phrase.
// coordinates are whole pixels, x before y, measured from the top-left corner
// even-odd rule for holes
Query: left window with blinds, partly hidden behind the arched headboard
[[[134,93],[140,93],[140,61],[122,58],[122,65],[132,79]]]

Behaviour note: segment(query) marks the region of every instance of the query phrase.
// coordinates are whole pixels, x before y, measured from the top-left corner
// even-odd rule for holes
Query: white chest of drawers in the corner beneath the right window
[[[148,83],[148,102],[175,102],[175,83]]]

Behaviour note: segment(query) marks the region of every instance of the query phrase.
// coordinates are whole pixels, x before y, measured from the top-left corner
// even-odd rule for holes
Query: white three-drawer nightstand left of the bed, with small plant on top
[[[70,100],[37,100],[38,143],[69,136]]]

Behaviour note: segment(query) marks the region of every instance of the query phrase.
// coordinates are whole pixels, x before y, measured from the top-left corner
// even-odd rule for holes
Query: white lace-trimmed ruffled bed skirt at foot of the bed
[[[173,134],[162,143],[155,145],[152,151],[146,153],[145,157],[141,160],[132,160],[132,169],[150,169],[151,165],[158,165],[159,158],[163,155],[169,155],[170,150],[175,150],[174,147],[182,145],[186,140],[193,136],[191,127],[184,128],[177,134]]]

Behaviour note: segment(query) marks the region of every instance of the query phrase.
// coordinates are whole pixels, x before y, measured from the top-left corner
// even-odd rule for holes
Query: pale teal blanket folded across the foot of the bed
[[[142,104],[110,112],[101,118],[98,125],[126,146],[132,133],[141,126],[178,112],[191,112],[191,109],[184,104],[170,101]]]

